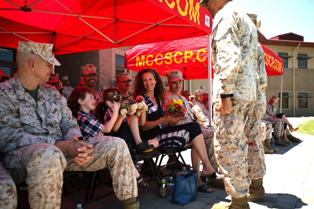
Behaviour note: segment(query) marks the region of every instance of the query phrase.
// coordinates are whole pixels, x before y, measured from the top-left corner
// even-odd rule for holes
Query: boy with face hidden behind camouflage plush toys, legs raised
[[[104,101],[109,100],[114,95],[122,96],[120,90],[117,88],[108,88],[103,91]],[[150,152],[159,146],[159,142],[157,139],[145,140],[140,138],[138,125],[145,123],[144,111],[140,110],[140,112],[141,115],[139,119],[135,114],[127,114],[125,118],[116,118],[113,114],[113,110],[108,108],[104,116],[104,121],[105,124],[107,124],[112,118],[116,118],[116,122],[112,127],[112,131],[116,132],[115,136],[124,139],[128,144],[132,144],[132,147],[135,148],[138,153]]]

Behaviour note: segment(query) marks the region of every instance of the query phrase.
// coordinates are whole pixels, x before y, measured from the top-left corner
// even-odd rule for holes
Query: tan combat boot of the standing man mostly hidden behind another
[[[247,201],[263,202],[266,200],[265,189],[263,187],[263,178],[251,179],[251,185],[249,187],[250,192],[246,195]]]

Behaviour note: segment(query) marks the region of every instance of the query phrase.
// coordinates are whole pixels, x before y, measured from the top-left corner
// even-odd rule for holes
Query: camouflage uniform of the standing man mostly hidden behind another
[[[245,135],[249,142],[247,153],[248,175],[254,180],[263,178],[266,174],[265,152],[261,140],[261,123],[263,114],[266,111],[265,88],[267,86],[267,73],[264,62],[264,51],[259,43],[257,52],[257,76],[259,77],[259,82],[257,85],[256,104],[253,112],[248,116],[245,127]]]

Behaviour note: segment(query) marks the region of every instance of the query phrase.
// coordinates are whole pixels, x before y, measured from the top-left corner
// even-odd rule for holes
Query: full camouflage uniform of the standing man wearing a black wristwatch
[[[257,43],[255,25],[234,2],[228,2],[216,13],[212,41],[214,148],[225,190],[236,198],[246,196],[250,185],[244,127],[259,82]],[[219,113],[220,94],[233,94],[230,114]]]

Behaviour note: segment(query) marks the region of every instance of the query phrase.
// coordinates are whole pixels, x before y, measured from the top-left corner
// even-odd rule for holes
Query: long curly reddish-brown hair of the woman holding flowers
[[[157,82],[154,88],[154,96],[161,101],[161,104],[163,104],[165,101],[164,96],[166,95],[165,85],[159,73],[153,68],[142,69],[141,71],[138,72],[138,74],[136,74],[135,79],[133,81],[132,96],[133,98],[136,98],[138,95],[146,93],[147,89],[144,87],[143,84],[143,74],[148,72],[153,74],[154,79]]]

